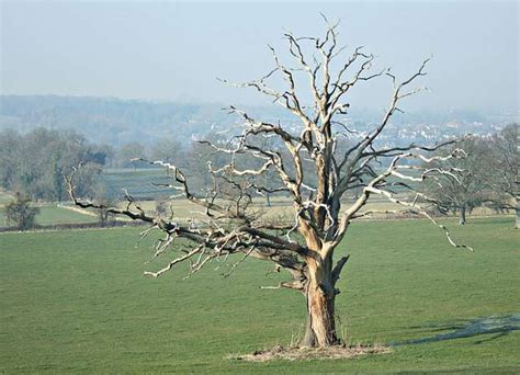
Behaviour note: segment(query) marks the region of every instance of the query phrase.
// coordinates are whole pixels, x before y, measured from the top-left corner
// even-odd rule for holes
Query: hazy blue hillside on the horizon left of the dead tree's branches
[[[56,95],[0,98],[0,129],[71,128],[95,143],[114,146],[132,141],[150,144],[172,135],[179,139],[202,136],[215,123],[230,121],[218,105],[210,104]]]

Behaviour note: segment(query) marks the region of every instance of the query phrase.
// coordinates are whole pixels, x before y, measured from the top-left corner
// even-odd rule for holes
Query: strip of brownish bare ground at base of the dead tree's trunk
[[[270,350],[256,351],[251,354],[231,355],[228,359],[249,362],[268,361],[310,361],[310,360],[340,360],[352,359],[361,355],[388,354],[392,349],[381,344],[372,345],[334,345],[326,348],[283,348],[276,345]]]

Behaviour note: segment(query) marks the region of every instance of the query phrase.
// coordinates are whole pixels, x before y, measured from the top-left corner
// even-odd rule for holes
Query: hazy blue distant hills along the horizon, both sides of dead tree
[[[58,95],[1,95],[0,129],[22,133],[43,126],[75,129],[95,143],[122,146],[129,143],[151,145],[165,137],[180,141],[202,138],[212,132],[230,128],[237,118],[223,110],[224,104],[152,102],[114,98]],[[262,121],[297,126],[297,121],[275,106],[249,106],[248,113]],[[380,111],[353,110],[346,121],[363,133],[381,117]],[[493,134],[511,122],[518,113],[478,113],[451,111],[405,113],[393,117],[384,143],[438,140],[445,136],[474,133]]]

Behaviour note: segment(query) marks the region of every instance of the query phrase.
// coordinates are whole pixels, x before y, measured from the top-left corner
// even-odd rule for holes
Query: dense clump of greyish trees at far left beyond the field
[[[0,132],[0,186],[33,201],[64,201],[68,194],[63,174],[86,163],[78,179],[82,196],[93,196],[110,147],[92,145],[71,130],[36,128],[27,134]]]

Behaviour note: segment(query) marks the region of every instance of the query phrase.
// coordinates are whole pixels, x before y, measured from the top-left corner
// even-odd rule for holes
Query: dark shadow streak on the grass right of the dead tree
[[[429,331],[442,332],[450,330],[451,332],[439,333],[420,339],[405,340],[389,343],[393,346],[410,345],[410,344],[422,344],[429,342],[454,340],[481,337],[484,334],[491,334],[475,342],[479,344],[486,341],[495,340],[513,331],[520,330],[520,314],[511,315],[495,315],[486,318],[478,318],[474,320],[466,320],[459,323],[450,323],[443,326],[427,326],[427,327],[412,327],[412,328],[427,328]]]

